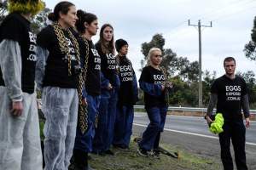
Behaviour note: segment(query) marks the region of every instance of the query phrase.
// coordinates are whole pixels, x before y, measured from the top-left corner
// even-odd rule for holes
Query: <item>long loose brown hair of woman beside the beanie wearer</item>
[[[100,39],[98,41],[98,43],[101,45],[101,48],[102,48],[102,52],[104,54],[107,54],[108,52],[111,52],[112,54],[114,54],[114,44],[113,44],[113,37],[112,39],[110,40],[110,42],[106,43],[106,40],[104,39],[103,37],[103,31],[105,30],[105,28],[107,27],[110,27],[112,30],[113,30],[113,26],[111,26],[110,24],[104,24],[101,28],[101,31],[100,31]]]

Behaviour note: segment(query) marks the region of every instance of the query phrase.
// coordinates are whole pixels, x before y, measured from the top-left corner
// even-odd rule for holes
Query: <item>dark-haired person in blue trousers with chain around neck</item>
[[[95,136],[96,114],[99,111],[101,94],[101,57],[97,53],[91,37],[96,35],[98,22],[95,14],[84,13],[78,10],[79,20],[76,29],[79,31],[79,48],[81,67],[84,68],[85,88],[83,91],[84,103],[87,105],[88,116],[86,131],[83,132],[78,121],[75,144],[73,148],[72,165],[69,169],[88,170],[88,153],[92,151],[92,141]],[[88,52],[89,51],[89,52]],[[86,72],[86,73],[85,73]],[[86,75],[85,75],[86,74]],[[79,117],[80,119],[81,117]]]

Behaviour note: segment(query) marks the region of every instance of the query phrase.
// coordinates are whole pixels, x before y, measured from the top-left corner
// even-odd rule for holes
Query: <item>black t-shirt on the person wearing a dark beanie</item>
[[[119,57],[119,105],[135,105],[137,101],[133,91],[134,74],[131,61],[126,56]]]

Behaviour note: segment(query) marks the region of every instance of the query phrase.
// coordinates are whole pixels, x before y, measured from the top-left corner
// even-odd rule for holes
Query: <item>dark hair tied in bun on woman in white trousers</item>
[[[73,3],[68,1],[62,1],[61,3],[57,3],[55,5],[55,9],[53,13],[48,14],[48,19],[51,21],[57,21],[60,19],[60,12],[61,14],[67,14],[69,11],[69,7],[75,6]]]

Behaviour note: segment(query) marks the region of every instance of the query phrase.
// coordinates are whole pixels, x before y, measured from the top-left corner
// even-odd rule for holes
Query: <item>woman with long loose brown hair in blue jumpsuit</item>
[[[117,92],[120,86],[114,55],[113,26],[109,24],[102,26],[96,49],[102,61],[102,94],[93,152],[99,155],[113,155],[109,149],[113,141]]]

